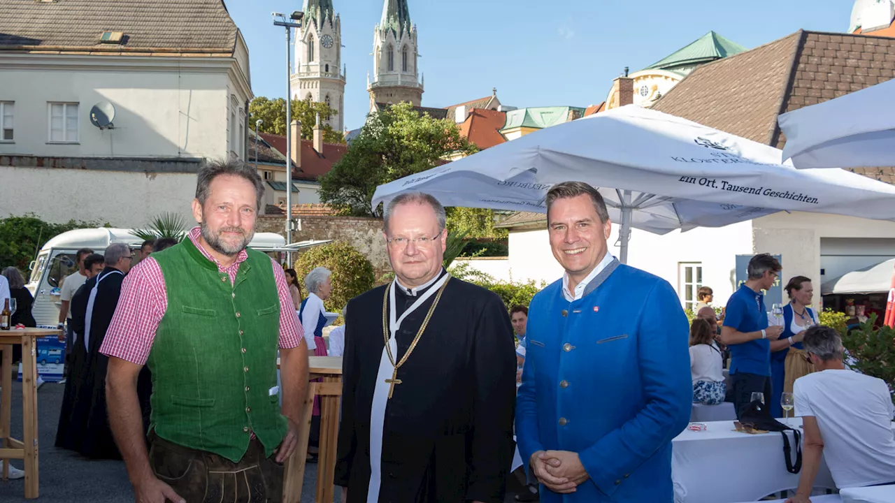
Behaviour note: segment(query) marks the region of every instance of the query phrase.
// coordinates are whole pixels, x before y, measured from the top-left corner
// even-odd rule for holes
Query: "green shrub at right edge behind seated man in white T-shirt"
[[[895,390],[895,329],[885,325],[876,328],[875,322],[874,313],[859,327],[845,334],[842,345],[851,356],[848,365],[852,369],[886,381],[891,393]]]

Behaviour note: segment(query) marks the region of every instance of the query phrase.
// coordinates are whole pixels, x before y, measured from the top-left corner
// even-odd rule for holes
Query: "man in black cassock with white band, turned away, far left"
[[[88,279],[72,297],[72,329],[76,335],[55,446],[91,458],[121,459],[108,426],[108,357],[99,354],[99,346],[115,314],[131,261],[132,252],[126,244],[110,244],[106,249],[106,268]],[[141,376],[143,386],[151,389],[150,382],[143,382],[145,379]],[[146,396],[147,403],[148,399]]]

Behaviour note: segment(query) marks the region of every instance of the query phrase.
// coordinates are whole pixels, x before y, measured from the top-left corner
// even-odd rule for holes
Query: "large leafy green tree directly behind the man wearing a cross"
[[[381,209],[371,209],[378,185],[444,164],[450,154],[477,150],[455,123],[400,103],[369,117],[345,156],[320,178],[320,200],[354,216],[379,217]]]

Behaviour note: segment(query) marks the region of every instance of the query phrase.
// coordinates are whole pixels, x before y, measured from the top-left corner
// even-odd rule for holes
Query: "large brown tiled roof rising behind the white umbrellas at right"
[[[705,64],[653,107],[782,149],[777,116],[895,77],[895,40],[797,31]],[[891,183],[891,167],[856,169]]]

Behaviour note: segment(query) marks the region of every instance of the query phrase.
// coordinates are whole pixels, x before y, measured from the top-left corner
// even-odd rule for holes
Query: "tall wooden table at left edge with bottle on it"
[[[38,348],[35,337],[59,336],[62,330],[25,328],[0,332],[0,459],[25,460],[25,498],[38,497]],[[21,400],[24,441],[13,439],[10,421],[13,400],[13,345],[21,344]],[[9,476],[8,464],[4,463],[0,478]]]

